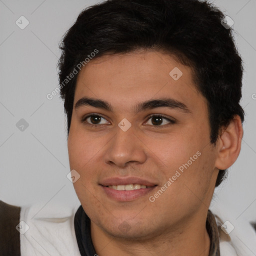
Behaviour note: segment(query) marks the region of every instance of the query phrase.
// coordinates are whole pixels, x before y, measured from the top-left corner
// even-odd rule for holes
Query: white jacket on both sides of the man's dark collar
[[[79,206],[80,203],[72,207],[37,203],[21,207],[20,221],[25,222],[21,222],[21,256],[80,256],[74,231],[74,214]],[[248,220],[235,220],[219,208],[214,206],[210,210],[218,225],[220,255],[255,256],[256,232]],[[234,226],[228,235],[220,228],[226,220]]]

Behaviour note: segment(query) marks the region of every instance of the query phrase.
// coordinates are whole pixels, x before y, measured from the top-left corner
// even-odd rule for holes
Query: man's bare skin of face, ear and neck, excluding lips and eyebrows
[[[169,75],[174,67],[183,73],[178,80]],[[207,101],[193,83],[191,68],[154,50],[90,60],[78,75],[74,106],[84,96],[105,100],[113,108],[73,107],[68,135],[70,169],[80,174],[73,185],[91,219],[97,254],[208,255],[207,210],[219,169],[229,167],[239,154],[240,118],[235,116],[221,131],[215,147],[210,144]],[[182,102],[190,112],[168,107],[134,111],[141,101],[163,97]],[[90,117],[81,122],[93,113],[103,116],[98,124],[86,125],[92,124]],[[162,114],[175,123],[164,118],[156,122],[149,114]],[[131,123],[125,132],[118,127],[123,118]],[[200,156],[149,201],[197,151]],[[120,202],[99,185],[113,176],[150,178],[158,186],[145,196]],[[123,225],[128,228],[121,229]]]

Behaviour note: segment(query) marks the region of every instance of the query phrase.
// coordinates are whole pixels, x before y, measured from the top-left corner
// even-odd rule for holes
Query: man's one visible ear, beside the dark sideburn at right
[[[224,170],[235,162],[241,149],[242,135],[241,118],[235,115],[228,126],[221,131],[218,138],[216,168]]]

